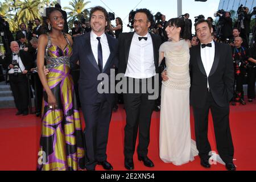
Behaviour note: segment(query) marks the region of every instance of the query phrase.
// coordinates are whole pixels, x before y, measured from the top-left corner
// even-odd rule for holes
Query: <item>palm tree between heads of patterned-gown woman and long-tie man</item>
[[[86,5],[88,5],[90,1],[84,2],[84,0],[72,0],[69,2],[71,7],[64,7],[65,10],[69,10],[68,12],[68,25],[69,27],[73,26],[73,22],[78,19],[80,22],[81,20],[88,19],[89,15],[89,8],[85,9]]]

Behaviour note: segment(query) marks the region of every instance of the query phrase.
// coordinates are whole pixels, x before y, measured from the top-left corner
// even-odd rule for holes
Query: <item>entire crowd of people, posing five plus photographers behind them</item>
[[[227,12],[223,16],[229,19],[229,15]],[[126,111],[126,169],[134,169],[137,133],[138,160],[154,167],[147,156],[153,110],[160,111],[159,155],[163,162],[179,166],[199,155],[201,166],[209,168],[210,109],[218,153],[228,170],[236,170],[229,105],[246,104],[245,83],[248,101],[255,99],[256,43],[249,47],[240,28],[234,27],[230,34],[229,23],[224,28],[229,32],[225,38],[232,41],[220,43],[223,40],[214,34],[211,17],[196,22],[196,35],[192,35],[189,14],[168,21],[162,15],[160,23],[152,27],[151,12],[138,9],[134,32],[122,32],[119,17],[115,23],[112,26],[107,11],[96,6],[90,10],[88,21],[74,22],[69,35],[67,14],[59,6],[50,7],[43,23],[35,19],[36,27],[31,31],[21,23],[15,41],[10,42],[10,52],[2,62],[13,91],[16,115],[28,114],[31,84],[35,114],[42,117],[39,158],[45,156],[46,162],[39,163],[38,170],[95,170],[97,164],[113,169],[106,147],[112,111],[120,103]],[[115,76],[122,75],[121,94],[109,92],[113,86],[112,69]],[[98,80],[101,74],[109,78],[108,84]],[[114,81],[114,86],[117,84]],[[100,93],[99,85],[108,92]],[[148,85],[154,85],[159,97],[150,98]],[[190,105],[196,141],[191,139]]]

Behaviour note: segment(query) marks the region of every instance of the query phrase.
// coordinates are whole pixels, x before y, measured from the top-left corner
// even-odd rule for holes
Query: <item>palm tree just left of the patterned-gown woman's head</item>
[[[38,8],[40,7],[40,3],[40,0],[24,0],[23,2],[17,3],[17,6],[20,7],[18,11],[19,22],[27,22],[39,18]]]

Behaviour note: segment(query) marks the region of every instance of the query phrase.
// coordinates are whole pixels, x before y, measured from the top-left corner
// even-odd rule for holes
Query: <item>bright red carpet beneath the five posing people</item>
[[[123,138],[125,127],[125,111],[119,106],[117,113],[113,113],[110,123],[108,161],[112,163],[114,170],[125,170],[123,167]],[[35,115],[15,116],[15,109],[0,109],[0,170],[35,170],[37,152],[40,138],[40,118]],[[159,158],[159,114],[152,114],[151,138],[148,148],[148,156],[155,163],[154,168],[143,166],[134,155],[135,170],[205,170],[200,166],[197,156],[193,162],[183,166],[174,166],[162,162]],[[193,115],[191,112],[192,138],[195,138],[193,130]],[[84,122],[83,122],[84,125]],[[235,148],[234,164],[237,170],[256,170],[256,101],[247,103],[246,106],[230,106],[230,128],[232,131]],[[216,150],[212,118],[209,124],[209,140],[212,150]],[[97,166],[96,170],[102,170]],[[210,170],[225,170],[222,164],[212,165]]]

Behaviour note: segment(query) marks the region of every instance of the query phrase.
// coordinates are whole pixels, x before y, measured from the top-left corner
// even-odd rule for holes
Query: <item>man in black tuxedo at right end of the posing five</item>
[[[209,168],[208,114],[211,110],[218,153],[228,170],[234,171],[234,147],[229,127],[229,101],[233,97],[232,50],[212,40],[207,20],[195,25],[201,44],[190,50],[192,72],[191,105],[195,117],[196,146],[201,166]]]

